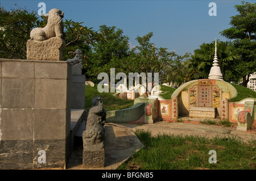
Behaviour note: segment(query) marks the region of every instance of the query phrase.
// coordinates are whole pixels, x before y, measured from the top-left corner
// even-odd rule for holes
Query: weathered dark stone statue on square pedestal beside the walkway
[[[85,112],[86,129],[82,133],[84,167],[104,167],[106,110],[102,98],[92,100],[92,107]]]

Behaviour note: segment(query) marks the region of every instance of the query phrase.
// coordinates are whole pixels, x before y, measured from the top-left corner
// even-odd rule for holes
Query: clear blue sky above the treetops
[[[135,38],[154,32],[151,42],[156,47],[176,50],[183,55],[193,53],[202,43],[210,43],[215,39],[226,41],[220,31],[229,28],[230,16],[238,14],[234,5],[241,5],[241,1],[7,1],[0,0],[6,10],[26,7],[38,12],[39,2],[46,3],[46,12],[53,8],[64,12],[64,20],[84,22],[84,26],[93,27],[97,31],[99,26],[115,26],[129,36],[131,46],[138,45]],[[217,16],[209,16],[210,2],[217,5]],[[246,1],[255,3],[256,1]],[[15,4],[17,6],[15,6]]]

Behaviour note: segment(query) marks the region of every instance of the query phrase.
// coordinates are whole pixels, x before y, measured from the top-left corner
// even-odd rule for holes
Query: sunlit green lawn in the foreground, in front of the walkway
[[[174,136],[138,130],[144,148],[135,152],[120,170],[193,170],[256,169],[256,141],[247,143],[237,137]],[[216,151],[217,163],[209,163],[210,150]]]

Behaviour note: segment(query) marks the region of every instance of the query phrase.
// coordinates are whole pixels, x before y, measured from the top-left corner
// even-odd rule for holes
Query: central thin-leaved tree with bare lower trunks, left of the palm
[[[150,42],[152,32],[147,33],[142,37],[138,36],[136,40],[139,45],[133,49],[128,65],[134,68],[131,72],[152,73],[152,85],[154,87],[154,74],[159,73],[159,83],[170,80],[170,75],[174,72],[175,64],[180,60],[174,50],[167,48],[156,48],[154,43]],[[175,77],[172,77],[175,79]],[[144,87],[147,91],[147,85]],[[150,94],[150,92],[147,92]]]

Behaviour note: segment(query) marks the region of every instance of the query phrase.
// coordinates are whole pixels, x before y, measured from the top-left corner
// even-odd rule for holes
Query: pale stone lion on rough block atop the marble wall
[[[27,60],[62,60],[65,48],[63,16],[64,13],[59,9],[51,9],[46,15],[46,27],[34,28],[30,32]]]

